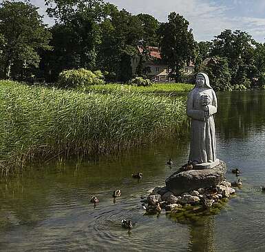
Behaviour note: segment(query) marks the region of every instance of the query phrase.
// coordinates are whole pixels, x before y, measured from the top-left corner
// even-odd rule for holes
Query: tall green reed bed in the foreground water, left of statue
[[[0,81],[1,174],[65,155],[105,155],[181,130],[182,98],[82,93]]]

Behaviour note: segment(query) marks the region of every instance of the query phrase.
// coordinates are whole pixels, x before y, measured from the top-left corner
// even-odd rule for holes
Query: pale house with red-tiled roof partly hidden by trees
[[[160,49],[155,46],[147,46],[148,54],[150,56],[149,61],[145,63],[144,68],[147,70],[147,77],[151,81],[173,81],[169,77],[169,66],[162,61]],[[142,55],[143,48],[138,46],[138,55],[131,59],[132,75],[136,74],[137,66],[140,63],[140,55]],[[183,68],[184,75],[192,75],[194,72],[194,65],[191,62],[189,66]]]

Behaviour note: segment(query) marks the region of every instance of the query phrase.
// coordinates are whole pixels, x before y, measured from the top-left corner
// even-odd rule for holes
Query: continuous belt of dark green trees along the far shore
[[[54,83],[63,70],[85,68],[101,70],[107,82],[146,79],[146,64],[153,60],[149,47],[156,46],[160,62],[178,82],[183,67],[195,64],[195,71],[209,73],[218,90],[265,85],[265,43],[247,32],[224,30],[212,41],[196,42],[189,21],[176,12],[161,23],[150,14],[134,15],[103,0],[45,0],[45,5],[55,21],[50,28],[28,1],[1,3],[1,78]],[[136,57],[133,76],[131,60]]]

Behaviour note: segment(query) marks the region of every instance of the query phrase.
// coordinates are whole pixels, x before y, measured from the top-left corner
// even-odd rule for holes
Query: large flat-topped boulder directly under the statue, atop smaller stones
[[[167,178],[166,187],[175,195],[209,186],[216,187],[224,180],[225,173],[224,162],[211,169],[176,172]]]

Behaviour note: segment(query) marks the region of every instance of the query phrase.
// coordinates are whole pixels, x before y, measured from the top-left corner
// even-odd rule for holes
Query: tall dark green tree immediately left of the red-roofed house
[[[98,64],[111,73],[112,80],[128,81],[132,77],[131,57],[137,55],[142,39],[142,23],[126,10],[113,11],[100,25],[103,39]]]

